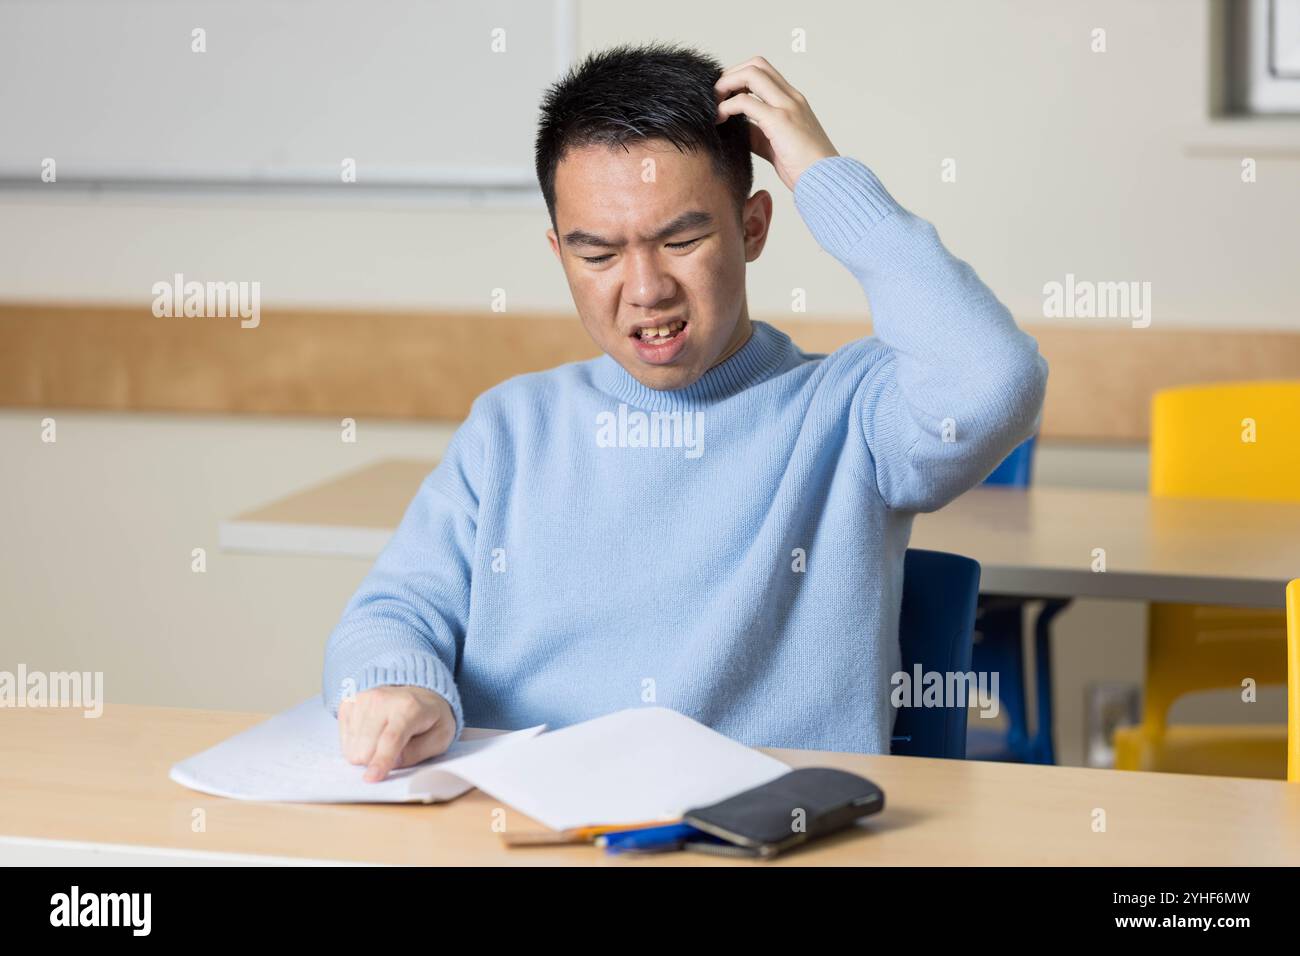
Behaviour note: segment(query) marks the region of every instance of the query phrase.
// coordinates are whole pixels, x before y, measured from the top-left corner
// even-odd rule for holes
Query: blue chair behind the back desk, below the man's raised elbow
[[[1034,476],[1034,437],[1018,445],[993,470],[985,485],[1028,488]],[[1052,741],[1052,620],[1070,601],[1050,598],[1034,620],[1034,687],[1037,721],[1034,735],[1028,724],[1028,689],[1024,665],[1024,605],[1032,596],[985,594],[979,600],[975,648],[971,654],[976,672],[998,675],[998,709],[1006,715],[1006,730],[971,727],[966,748],[971,760],[1001,760],[1017,763],[1054,763]]]

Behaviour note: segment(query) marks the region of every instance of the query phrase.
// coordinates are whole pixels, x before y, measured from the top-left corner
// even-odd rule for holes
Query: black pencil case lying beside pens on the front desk
[[[764,784],[682,814],[708,838],[684,849],[723,856],[772,857],[879,813],[884,791],[846,770],[801,767]]]

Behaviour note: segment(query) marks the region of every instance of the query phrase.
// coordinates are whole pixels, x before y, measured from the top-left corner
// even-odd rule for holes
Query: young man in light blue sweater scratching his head
[[[774,164],[878,337],[751,321]],[[913,515],[1035,429],[1046,364],[935,229],[755,57],[589,57],[542,104],[547,238],[598,359],[488,390],[325,654],[367,779],[468,723],[658,704],[750,745],[889,749]]]

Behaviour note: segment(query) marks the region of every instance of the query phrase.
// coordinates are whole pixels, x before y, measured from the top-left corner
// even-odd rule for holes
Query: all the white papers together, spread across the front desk
[[[172,779],[237,800],[437,803],[473,787],[545,826],[676,819],[789,767],[667,708],[632,708],[550,734],[465,728],[447,753],[367,783],[316,697],[190,757]]]

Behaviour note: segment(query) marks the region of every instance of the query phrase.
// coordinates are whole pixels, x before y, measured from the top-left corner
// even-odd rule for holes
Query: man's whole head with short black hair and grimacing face
[[[720,75],[682,47],[615,47],[542,100],[551,248],[588,334],[654,389],[689,385],[750,332],[745,263],[763,250],[772,199],[749,195],[745,117],[715,122]]]

